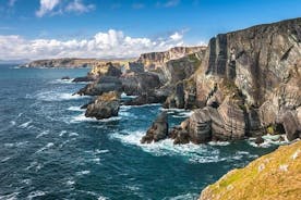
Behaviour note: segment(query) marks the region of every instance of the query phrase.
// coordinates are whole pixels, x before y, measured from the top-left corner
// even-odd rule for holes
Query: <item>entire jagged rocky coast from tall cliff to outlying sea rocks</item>
[[[77,93],[96,97],[86,112],[96,118],[116,116],[117,102],[193,110],[170,130],[168,124],[161,127],[158,123],[166,117],[158,116],[142,142],[171,138],[174,143],[203,143],[257,137],[260,143],[266,134],[282,134],[291,141],[301,136],[300,43],[301,18],[258,25],[217,35],[208,47],[177,47],[144,53],[123,65],[96,65],[87,75],[94,82]],[[112,91],[119,93],[112,102],[103,98]],[[121,102],[121,92],[137,97]],[[103,107],[96,107],[99,103],[109,105],[104,116],[99,115]],[[165,133],[158,137],[156,128]]]

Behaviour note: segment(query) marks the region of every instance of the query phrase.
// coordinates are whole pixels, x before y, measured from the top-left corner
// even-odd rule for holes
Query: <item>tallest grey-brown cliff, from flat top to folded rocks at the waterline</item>
[[[217,35],[194,77],[195,112],[208,118],[192,115],[183,132],[208,135],[197,142],[261,136],[267,129],[288,140],[300,137],[301,18]]]

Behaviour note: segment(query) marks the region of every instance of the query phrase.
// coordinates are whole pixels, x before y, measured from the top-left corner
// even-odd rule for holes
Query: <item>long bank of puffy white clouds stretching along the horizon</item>
[[[166,38],[130,37],[109,29],[89,39],[25,39],[22,36],[0,35],[0,60],[47,58],[133,58],[149,51],[164,51],[183,46],[183,36],[174,33]]]

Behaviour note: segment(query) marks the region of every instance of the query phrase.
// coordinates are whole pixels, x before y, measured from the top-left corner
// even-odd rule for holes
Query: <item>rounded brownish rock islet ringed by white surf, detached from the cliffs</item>
[[[120,93],[110,91],[99,96],[93,103],[87,105],[86,117],[95,117],[97,120],[117,116],[120,104]]]

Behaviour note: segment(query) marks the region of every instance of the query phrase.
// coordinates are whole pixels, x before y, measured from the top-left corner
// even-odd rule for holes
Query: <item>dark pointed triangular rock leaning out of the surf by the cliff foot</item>
[[[167,113],[162,112],[158,115],[156,121],[152,124],[150,128],[146,132],[146,135],[141,139],[142,143],[150,143],[153,141],[159,141],[168,136],[168,122]]]

